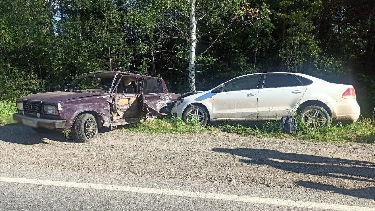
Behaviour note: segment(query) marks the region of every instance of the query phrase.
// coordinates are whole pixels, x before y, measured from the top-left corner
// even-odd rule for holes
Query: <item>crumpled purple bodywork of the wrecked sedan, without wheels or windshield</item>
[[[71,129],[79,115],[90,113],[95,116],[99,126],[112,127],[113,125],[141,122],[150,117],[168,115],[177,98],[181,96],[177,93],[169,93],[165,81],[157,77],[120,71],[102,71],[85,73],[80,79],[95,77],[95,75],[97,77],[98,74],[106,74],[107,77],[113,75],[112,85],[107,87],[107,92],[74,90],[72,86],[71,89],[58,92],[28,95],[20,97],[16,101],[31,101],[39,106],[40,111],[35,109],[26,112],[18,110],[18,113],[33,118],[38,116],[39,119],[65,120],[66,128],[62,130]],[[80,79],[76,83],[80,83]],[[151,83],[153,81],[157,83]],[[154,88],[150,84],[155,84],[157,87]],[[117,93],[117,88],[119,88],[119,93]],[[145,92],[155,90],[154,92],[160,93],[143,93],[143,90]],[[56,106],[58,115],[45,114],[42,109],[43,105]]]

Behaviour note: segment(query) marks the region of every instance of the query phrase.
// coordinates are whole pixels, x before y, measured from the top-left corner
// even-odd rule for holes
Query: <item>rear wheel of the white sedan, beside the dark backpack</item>
[[[327,126],[331,121],[329,113],[323,107],[318,105],[306,106],[300,112],[300,118],[302,119],[303,124],[313,130]]]

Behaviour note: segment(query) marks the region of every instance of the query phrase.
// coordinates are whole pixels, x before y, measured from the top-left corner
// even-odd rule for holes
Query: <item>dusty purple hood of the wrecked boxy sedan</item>
[[[62,101],[67,101],[70,99],[77,99],[77,98],[84,98],[84,97],[91,97],[91,96],[98,96],[104,95],[104,93],[98,92],[44,92],[44,93],[37,93],[34,95],[28,95],[24,97],[20,97],[18,99],[30,99],[30,100],[37,100],[51,104],[57,104]]]

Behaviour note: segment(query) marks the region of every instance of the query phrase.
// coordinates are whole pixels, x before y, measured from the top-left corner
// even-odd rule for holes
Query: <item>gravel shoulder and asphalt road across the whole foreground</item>
[[[0,211],[373,210],[375,145],[0,125]]]

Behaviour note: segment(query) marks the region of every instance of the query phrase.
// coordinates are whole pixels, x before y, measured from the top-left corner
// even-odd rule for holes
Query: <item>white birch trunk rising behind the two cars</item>
[[[189,54],[189,86],[190,91],[195,92],[195,45],[196,45],[196,20],[195,0],[190,0],[190,54]]]

